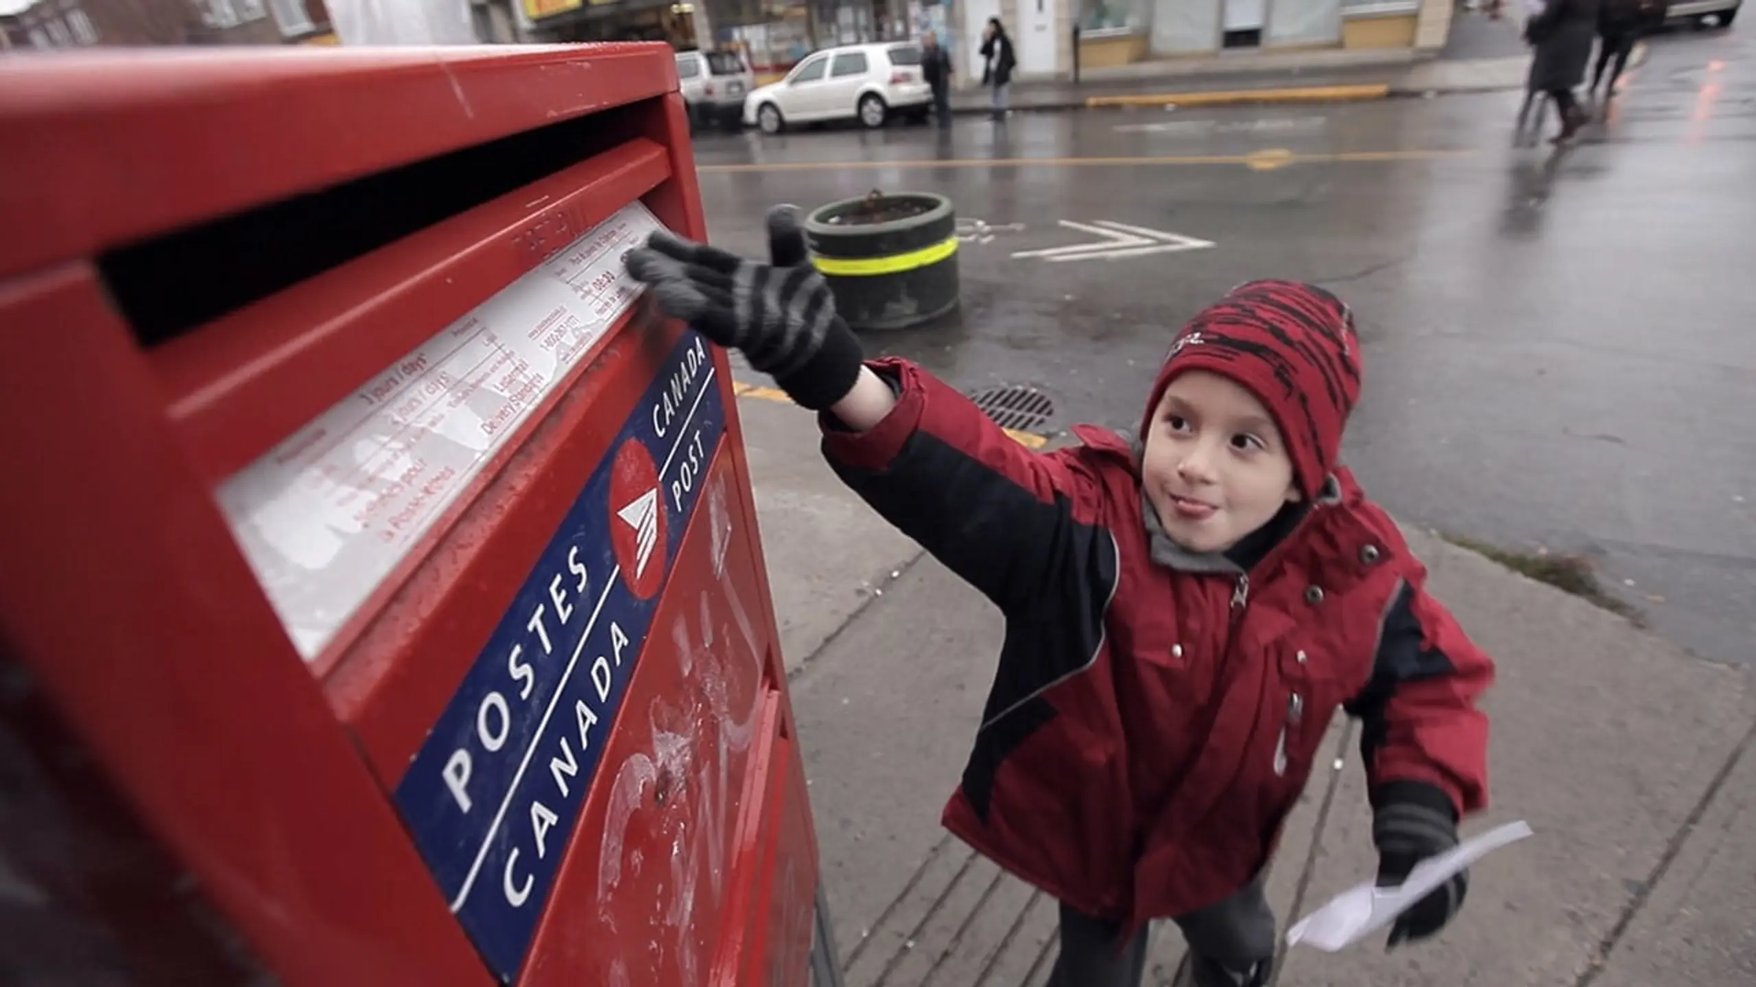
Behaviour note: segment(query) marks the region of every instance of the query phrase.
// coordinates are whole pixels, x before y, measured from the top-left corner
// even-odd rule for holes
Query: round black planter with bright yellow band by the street
[[[806,216],[804,237],[857,330],[908,328],[957,307],[957,214],[943,195],[831,202]]]

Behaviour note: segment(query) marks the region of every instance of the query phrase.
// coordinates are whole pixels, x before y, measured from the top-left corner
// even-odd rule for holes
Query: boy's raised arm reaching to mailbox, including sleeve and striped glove
[[[1024,450],[920,367],[866,364],[806,256],[797,213],[771,209],[767,225],[771,263],[657,232],[627,267],[666,314],[743,351],[818,411],[831,467],[885,520],[1008,613],[1047,604],[1071,616],[1050,622],[1069,638],[1054,653],[1094,652],[1117,553],[1103,527],[1075,516],[1075,502],[1090,506],[1092,478]]]

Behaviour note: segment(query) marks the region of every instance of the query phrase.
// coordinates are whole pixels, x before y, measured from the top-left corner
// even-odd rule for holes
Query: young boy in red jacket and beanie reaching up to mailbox
[[[1347,306],[1241,285],[1171,342],[1138,439],[1078,427],[1033,453],[915,364],[862,360],[790,207],[769,253],[655,234],[627,263],[818,411],[841,479],[1006,615],[945,825],[1061,901],[1050,983],[1140,983],[1159,917],[1189,943],[1180,987],[1266,983],[1264,868],[1336,706],[1363,720],[1380,883],[1457,843],[1486,804],[1493,664],[1336,462],[1359,395]]]

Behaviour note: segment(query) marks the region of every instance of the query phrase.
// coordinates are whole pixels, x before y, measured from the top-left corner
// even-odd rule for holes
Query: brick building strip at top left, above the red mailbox
[[[0,16],[0,46],[297,44],[328,35],[323,0],[35,0]]]

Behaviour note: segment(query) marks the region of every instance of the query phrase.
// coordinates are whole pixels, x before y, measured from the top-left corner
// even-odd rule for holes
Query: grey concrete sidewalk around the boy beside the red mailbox
[[[762,392],[755,392],[762,393]],[[992,606],[824,465],[811,416],[739,400],[848,987],[1018,987],[1054,903],[939,827],[999,650]],[[1498,659],[1493,810],[1536,836],[1484,861],[1456,924],[1385,954],[1298,950],[1285,987],[1756,982],[1756,690],[1624,620],[1410,530]],[[1282,927],[1373,873],[1357,739],[1331,731],[1271,873]],[[1148,983],[1180,957],[1157,933]]]

